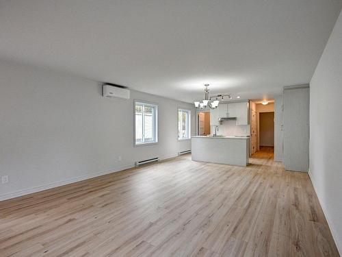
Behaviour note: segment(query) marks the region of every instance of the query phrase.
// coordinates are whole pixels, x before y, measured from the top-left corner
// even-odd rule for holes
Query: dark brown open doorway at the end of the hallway
[[[274,147],[274,112],[259,113],[259,146]]]

